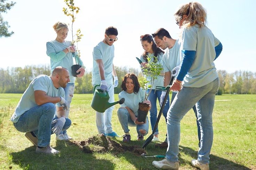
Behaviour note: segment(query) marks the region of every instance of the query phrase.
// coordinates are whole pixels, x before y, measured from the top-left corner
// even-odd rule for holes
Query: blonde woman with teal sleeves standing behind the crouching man
[[[65,23],[57,22],[53,26],[54,31],[57,34],[57,37],[53,41],[49,41],[46,43],[46,54],[51,59],[51,72],[57,66],[61,66],[67,68],[69,71],[70,82],[64,88],[65,91],[65,100],[67,101],[68,110],[65,112],[66,118],[69,117],[69,108],[70,103],[75,90],[75,80],[76,77],[72,75],[71,66],[73,65],[73,57],[76,58],[76,61],[82,66],[77,70],[77,77],[81,78],[85,73],[85,67],[83,65],[82,60],[78,57],[76,52],[76,46],[71,45],[71,41],[66,41],[66,37],[68,36],[68,25]],[[56,135],[56,140],[68,141],[72,139],[67,134],[67,131],[64,130],[60,135]]]

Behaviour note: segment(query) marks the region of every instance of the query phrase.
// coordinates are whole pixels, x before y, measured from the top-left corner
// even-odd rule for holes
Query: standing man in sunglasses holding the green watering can
[[[114,102],[114,87],[118,85],[116,71],[113,65],[114,45],[117,41],[117,29],[113,26],[106,28],[103,41],[93,49],[92,85],[100,84],[100,89],[109,94],[110,103]],[[114,84],[113,84],[113,77]],[[104,113],[96,111],[96,126],[99,134],[109,137],[118,137],[111,127],[111,117],[114,106]]]

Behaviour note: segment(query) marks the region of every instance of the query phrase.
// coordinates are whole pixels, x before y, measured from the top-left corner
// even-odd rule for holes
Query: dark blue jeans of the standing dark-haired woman
[[[149,93],[149,89],[147,90],[147,94]],[[158,91],[158,90],[153,90],[150,92],[149,96],[148,96],[148,100],[151,102],[151,109],[149,111],[150,113],[150,124],[151,124],[151,128],[152,130],[154,129],[154,126],[156,124],[156,119],[157,119],[157,109],[156,109],[156,100],[158,99],[158,102],[160,103],[160,96],[162,94],[162,91]],[[169,110],[170,107],[170,100],[169,100],[169,94],[168,94],[168,98],[167,98],[168,102],[166,103],[166,105],[164,106],[163,109],[163,115],[166,121],[166,116],[167,116],[167,112]],[[158,133],[158,128],[156,128],[155,134],[157,135]]]

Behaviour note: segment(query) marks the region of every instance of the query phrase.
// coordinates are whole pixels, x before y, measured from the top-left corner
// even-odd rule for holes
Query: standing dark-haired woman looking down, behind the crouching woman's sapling
[[[140,64],[140,67],[147,68],[148,67],[147,65],[150,64],[151,62],[162,65],[162,57],[163,57],[164,51],[161,50],[160,48],[157,48],[157,46],[153,40],[153,37],[149,34],[145,34],[145,35],[140,36],[140,41],[141,41],[142,48],[145,50],[140,57],[140,60],[142,61],[142,63]],[[150,59],[150,61],[148,61],[148,58]],[[144,73],[143,68],[142,68],[142,74]],[[152,81],[152,75],[150,74],[150,72],[148,72],[148,73],[149,73],[148,75],[144,75],[144,76],[147,79],[147,81],[149,81],[149,83],[147,84],[147,87],[146,87],[147,88],[146,92],[147,92],[147,94],[149,94],[148,100],[152,104],[149,113],[150,113],[150,123],[151,123],[151,127],[153,130],[155,123],[156,123],[156,119],[157,119],[156,101],[158,99],[158,102],[160,102],[160,96],[162,94],[162,91],[155,91],[155,88],[156,88],[156,86],[164,85],[163,84],[164,72],[162,71],[162,73],[160,75],[158,75],[156,79],[154,79],[154,82]],[[150,92],[150,86],[152,86],[151,92]],[[165,120],[166,120],[166,115],[167,115],[169,106],[170,106],[170,101],[169,101],[169,94],[168,94],[167,103],[163,109],[163,115],[165,117]],[[157,128],[152,141],[159,141],[158,134],[159,133],[158,133],[158,128]]]

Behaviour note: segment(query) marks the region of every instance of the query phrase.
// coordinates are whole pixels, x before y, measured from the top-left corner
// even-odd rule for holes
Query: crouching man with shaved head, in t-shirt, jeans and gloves
[[[14,127],[26,132],[26,138],[37,146],[38,153],[59,153],[50,146],[50,140],[51,134],[59,135],[71,125],[71,120],[65,117],[67,101],[63,89],[69,81],[69,71],[63,67],[56,67],[51,76],[37,76],[23,93],[11,116]]]

